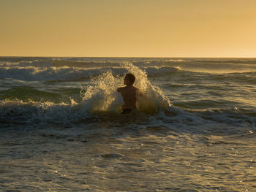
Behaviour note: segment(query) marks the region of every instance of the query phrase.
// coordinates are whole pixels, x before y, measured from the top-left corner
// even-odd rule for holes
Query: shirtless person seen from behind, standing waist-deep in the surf
[[[132,110],[136,110],[136,92],[138,88],[133,86],[135,82],[135,76],[131,73],[128,73],[124,77],[124,85],[127,85],[123,88],[118,88],[117,91],[121,93],[121,96],[124,100],[124,105],[121,106],[123,112],[121,114],[126,114]]]

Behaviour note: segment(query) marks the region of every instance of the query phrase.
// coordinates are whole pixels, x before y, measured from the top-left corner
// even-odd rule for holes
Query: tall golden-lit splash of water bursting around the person
[[[141,93],[138,94],[137,102],[140,112],[154,114],[170,106],[169,99],[162,91],[157,86],[151,85],[146,72],[130,63],[124,63],[121,66],[136,77],[134,85]],[[124,103],[116,89],[123,86],[123,78],[114,77],[110,71],[92,78],[92,85],[82,93],[84,103],[91,111],[120,111]]]

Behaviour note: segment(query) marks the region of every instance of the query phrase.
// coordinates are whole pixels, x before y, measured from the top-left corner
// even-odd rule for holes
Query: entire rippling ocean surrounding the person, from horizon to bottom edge
[[[0,82],[0,191],[256,191],[256,58],[1,57]]]

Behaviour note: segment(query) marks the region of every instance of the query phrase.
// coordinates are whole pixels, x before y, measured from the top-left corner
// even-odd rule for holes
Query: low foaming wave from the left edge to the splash
[[[69,104],[52,102],[0,101],[1,121],[7,123],[70,123],[86,118],[85,105],[70,101]]]

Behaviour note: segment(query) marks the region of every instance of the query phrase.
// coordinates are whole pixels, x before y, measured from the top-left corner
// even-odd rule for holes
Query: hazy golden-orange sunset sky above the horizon
[[[0,0],[0,56],[256,57],[256,0]]]

